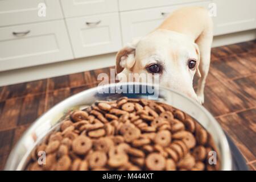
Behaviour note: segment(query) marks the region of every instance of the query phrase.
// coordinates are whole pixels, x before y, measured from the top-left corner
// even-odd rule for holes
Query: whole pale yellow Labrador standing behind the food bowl
[[[119,81],[129,73],[152,73],[159,85],[177,90],[200,104],[210,66],[213,22],[203,7],[175,10],[148,35],[118,51],[115,72]],[[197,73],[197,90],[193,77]],[[125,80],[126,81],[126,80]]]

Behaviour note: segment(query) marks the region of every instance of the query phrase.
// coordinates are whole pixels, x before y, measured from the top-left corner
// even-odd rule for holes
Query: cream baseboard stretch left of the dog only
[[[115,65],[115,54],[116,53],[109,53],[100,56],[84,57],[81,59],[0,72],[0,86],[110,67]]]

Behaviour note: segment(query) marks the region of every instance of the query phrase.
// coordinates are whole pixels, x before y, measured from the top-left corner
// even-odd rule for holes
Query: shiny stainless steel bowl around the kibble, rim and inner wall
[[[139,88],[139,90],[136,90],[135,87]],[[85,90],[65,99],[38,118],[26,133],[23,134],[23,137],[20,138],[19,142],[11,151],[5,170],[23,170],[27,165],[28,156],[32,149],[49,131],[56,128],[60,122],[60,118],[63,117],[64,113],[68,110],[83,105],[91,105],[96,100],[115,100],[123,96],[130,98],[148,98],[165,102],[191,115],[212,134],[218,151],[220,151],[221,170],[232,169],[232,157],[226,136],[218,122],[203,106],[183,94],[168,88],[159,88],[157,85],[154,85],[153,92],[152,89],[148,88],[152,88],[152,85],[131,82],[109,84]],[[126,90],[127,93],[120,93],[121,90]],[[102,91],[109,91],[109,93],[102,93]]]

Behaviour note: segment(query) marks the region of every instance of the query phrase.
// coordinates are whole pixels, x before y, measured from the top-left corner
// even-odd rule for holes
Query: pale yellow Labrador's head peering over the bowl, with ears
[[[152,73],[152,77],[159,76],[160,85],[197,99],[193,76],[196,72],[200,76],[199,63],[199,48],[192,39],[177,32],[156,30],[122,48],[115,68],[120,81],[128,73]]]

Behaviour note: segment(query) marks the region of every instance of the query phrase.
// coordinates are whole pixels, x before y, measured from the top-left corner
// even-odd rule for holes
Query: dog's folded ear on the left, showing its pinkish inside
[[[117,52],[115,57],[115,73],[121,73],[124,68],[130,69],[135,64],[135,49],[140,38],[134,39]]]

